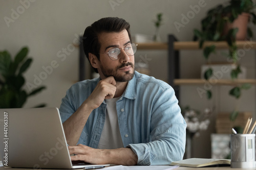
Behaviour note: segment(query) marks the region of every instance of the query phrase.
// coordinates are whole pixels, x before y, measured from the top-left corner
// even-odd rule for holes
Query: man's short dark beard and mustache
[[[125,75],[118,75],[117,74],[117,71],[118,69],[122,68],[122,67],[125,67],[125,66],[129,66],[131,65],[131,67],[133,68],[133,70],[129,70],[129,71],[125,71]],[[127,81],[130,81],[133,79],[133,76],[134,76],[134,64],[131,63],[131,62],[128,62],[128,63],[122,63],[121,65],[117,66],[116,68],[114,69],[111,69],[111,68],[103,68],[102,65],[100,65],[100,69],[102,71],[102,74],[105,76],[105,77],[110,77],[110,76],[113,76],[114,79],[117,81],[117,82],[127,82]],[[132,72],[130,72],[132,71]]]

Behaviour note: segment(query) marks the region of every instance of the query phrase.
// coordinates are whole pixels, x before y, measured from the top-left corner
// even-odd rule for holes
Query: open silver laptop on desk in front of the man
[[[4,166],[73,169],[109,165],[72,165],[58,108],[0,109],[0,140]]]

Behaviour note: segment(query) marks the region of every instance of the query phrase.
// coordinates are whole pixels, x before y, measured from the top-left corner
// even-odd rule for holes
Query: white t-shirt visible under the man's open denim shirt
[[[119,98],[105,99],[106,118],[99,139],[98,149],[123,148],[116,110],[116,101],[118,101],[118,99]]]

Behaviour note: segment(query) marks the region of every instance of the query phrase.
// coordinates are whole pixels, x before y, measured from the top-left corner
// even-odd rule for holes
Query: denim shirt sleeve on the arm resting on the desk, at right
[[[171,87],[160,90],[154,101],[150,138],[147,143],[127,145],[138,156],[138,165],[167,165],[182,160],[186,123]]]

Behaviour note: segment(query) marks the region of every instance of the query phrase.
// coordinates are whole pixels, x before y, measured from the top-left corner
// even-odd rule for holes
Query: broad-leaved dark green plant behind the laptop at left
[[[28,47],[23,47],[14,60],[8,51],[0,52],[0,108],[21,108],[30,96],[46,88],[40,86],[31,92],[23,89],[23,74],[32,63],[32,58],[27,58],[28,51]],[[35,107],[45,106],[40,104]]]

